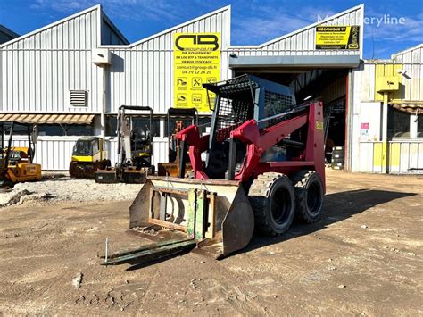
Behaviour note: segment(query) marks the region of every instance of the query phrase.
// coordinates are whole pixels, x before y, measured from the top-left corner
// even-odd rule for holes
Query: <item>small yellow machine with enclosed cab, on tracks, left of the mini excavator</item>
[[[69,173],[74,178],[94,179],[95,171],[111,166],[110,160],[106,157],[103,138],[79,138],[73,146]]]

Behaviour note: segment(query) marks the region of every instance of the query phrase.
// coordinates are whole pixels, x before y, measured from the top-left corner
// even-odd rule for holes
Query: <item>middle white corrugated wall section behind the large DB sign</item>
[[[121,104],[148,105],[154,114],[173,105],[173,41],[176,32],[220,32],[220,79],[228,77],[230,7],[187,21],[129,46],[107,46],[112,52],[107,113]]]

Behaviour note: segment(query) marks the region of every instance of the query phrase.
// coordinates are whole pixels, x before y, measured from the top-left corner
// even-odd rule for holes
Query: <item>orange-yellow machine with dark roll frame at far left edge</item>
[[[15,129],[21,126],[28,134],[28,146],[12,146]],[[41,164],[33,163],[35,145],[34,126],[27,123],[1,122],[2,154],[0,188],[12,188],[16,183],[41,179]],[[9,130],[8,145],[4,146],[4,133]],[[22,132],[22,131],[20,131]]]

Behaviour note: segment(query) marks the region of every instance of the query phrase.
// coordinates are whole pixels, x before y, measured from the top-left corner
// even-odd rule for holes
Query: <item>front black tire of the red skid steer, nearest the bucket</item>
[[[259,175],[248,196],[253,207],[255,229],[269,236],[279,236],[289,229],[294,220],[295,195],[294,186],[286,175],[277,172]]]

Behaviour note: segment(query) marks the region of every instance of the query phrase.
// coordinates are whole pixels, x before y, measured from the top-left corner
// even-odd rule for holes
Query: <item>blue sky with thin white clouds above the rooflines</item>
[[[364,58],[423,43],[422,0],[0,0],[0,24],[22,35],[95,4],[135,42],[228,4],[232,45],[259,45],[334,13],[364,3]]]

